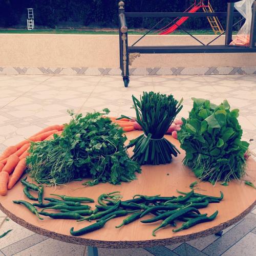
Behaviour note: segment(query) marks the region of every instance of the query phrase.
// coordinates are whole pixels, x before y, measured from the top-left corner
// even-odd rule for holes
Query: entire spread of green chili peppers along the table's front
[[[194,190],[189,192],[177,190],[182,195],[178,197],[135,195],[130,200],[121,201],[122,196],[119,194],[120,192],[115,191],[112,193],[101,194],[97,199],[98,205],[95,205],[95,209],[91,209],[91,206],[81,204],[82,202],[94,202],[93,199],[86,197],[70,197],[66,195],[51,194],[51,196],[60,197],[62,200],[56,198],[44,198],[49,202],[43,203],[42,195],[44,193],[44,188],[41,185],[36,186],[27,182],[26,179],[22,180],[22,183],[25,185],[25,191],[28,191],[28,189],[38,191],[38,199],[33,198],[33,196],[30,198],[31,195],[28,196],[31,200],[38,200],[38,203],[31,204],[23,200],[13,202],[23,204],[39,219],[42,219],[39,215],[43,215],[53,219],[72,219],[77,220],[78,222],[91,222],[92,220],[96,220],[95,223],[77,231],[74,231],[74,228],[72,227],[70,233],[73,236],[82,236],[83,234],[104,227],[105,223],[113,218],[127,215],[129,216],[125,217],[122,223],[117,225],[116,228],[120,228],[123,225],[139,220],[146,215],[153,215],[152,218],[141,220],[141,222],[145,224],[162,221],[161,224],[153,230],[153,236],[156,236],[155,232],[157,230],[164,228],[169,224],[176,227],[176,221],[184,222],[180,227],[173,229],[174,232],[177,232],[193,227],[199,223],[214,220],[218,215],[218,211],[208,217],[207,214],[201,214],[198,209],[207,207],[209,203],[219,203],[224,197],[222,192],[220,192],[220,197],[212,197],[195,193]],[[42,211],[38,212],[35,206],[43,208]],[[48,209],[58,211],[50,213],[46,211]]]

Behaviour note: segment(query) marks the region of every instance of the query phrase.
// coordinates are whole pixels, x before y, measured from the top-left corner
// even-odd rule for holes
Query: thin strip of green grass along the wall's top
[[[129,30],[129,34],[143,35],[147,30]],[[212,30],[188,30],[193,35],[214,35]],[[8,34],[86,34],[86,35],[118,35],[117,30],[82,30],[82,29],[0,29],[0,33]],[[150,34],[156,34],[151,32]],[[186,35],[185,32],[177,30],[174,35]]]

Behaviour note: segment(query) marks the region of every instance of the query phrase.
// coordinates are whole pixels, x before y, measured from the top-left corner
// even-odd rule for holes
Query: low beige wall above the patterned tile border
[[[140,36],[129,35],[129,45]],[[197,36],[208,42],[214,36]],[[223,44],[224,37],[215,44]],[[186,35],[150,35],[139,45],[198,45]],[[118,68],[118,35],[0,34],[0,67],[108,67]],[[256,66],[256,53],[143,54],[138,67]]]

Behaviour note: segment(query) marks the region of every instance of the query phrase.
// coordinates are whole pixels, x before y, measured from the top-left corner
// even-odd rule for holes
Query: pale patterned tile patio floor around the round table
[[[108,107],[112,116],[134,115],[131,96],[143,91],[172,93],[184,98],[180,116],[191,109],[191,97],[214,103],[227,99],[240,109],[244,139],[251,140],[256,154],[256,75],[132,76],[129,88],[120,76],[0,75],[0,152],[42,127],[69,120],[67,109],[86,113]],[[3,255],[84,255],[86,247],[39,236],[0,212],[0,240]],[[256,209],[242,221],[215,235],[183,244],[144,249],[99,249],[99,255],[255,255]]]

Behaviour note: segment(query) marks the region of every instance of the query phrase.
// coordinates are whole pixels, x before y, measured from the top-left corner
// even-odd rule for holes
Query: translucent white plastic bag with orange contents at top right
[[[252,4],[254,0],[242,0],[234,4],[234,7],[246,19],[242,28],[238,31],[236,38],[230,45],[248,46],[250,44],[251,18],[252,18]]]

